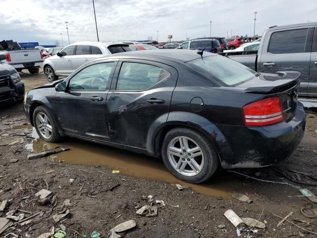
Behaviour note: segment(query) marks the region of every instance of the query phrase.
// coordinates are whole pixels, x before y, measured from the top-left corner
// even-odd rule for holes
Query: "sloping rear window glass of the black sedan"
[[[212,77],[228,86],[235,86],[251,80],[259,74],[251,68],[223,56],[210,56],[191,60],[188,63],[211,73]]]

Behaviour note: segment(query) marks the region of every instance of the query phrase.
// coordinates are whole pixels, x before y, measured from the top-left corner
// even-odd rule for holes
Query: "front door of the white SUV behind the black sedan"
[[[73,71],[72,58],[75,49],[76,46],[68,46],[60,52],[60,56],[54,60],[56,74],[68,75]]]

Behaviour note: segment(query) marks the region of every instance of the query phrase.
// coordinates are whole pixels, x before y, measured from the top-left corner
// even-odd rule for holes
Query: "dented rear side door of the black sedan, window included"
[[[173,67],[159,62],[118,63],[106,100],[112,142],[142,149],[151,143],[151,128],[166,123],[177,75]]]

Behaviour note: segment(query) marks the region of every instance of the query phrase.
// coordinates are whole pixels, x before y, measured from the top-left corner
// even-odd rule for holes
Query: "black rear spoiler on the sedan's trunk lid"
[[[283,92],[300,83],[301,73],[296,71],[278,71],[275,74],[261,73],[261,75],[267,80],[265,86],[258,86],[261,83],[257,81],[258,85],[256,87],[249,87],[245,91],[249,91],[249,93]],[[276,80],[276,76],[280,79]]]

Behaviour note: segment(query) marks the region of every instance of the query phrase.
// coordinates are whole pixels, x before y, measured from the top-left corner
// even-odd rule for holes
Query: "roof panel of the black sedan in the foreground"
[[[204,52],[203,56],[214,56],[215,54]],[[176,49],[165,49],[165,50],[151,50],[151,51],[130,51],[117,53],[106,57],[98,58],[98,60],[109,59],[109,58],[161,58],[165,60],[174,60],[174,61],[182,61],[187,62],[190,60],[196,60],[201,58],[200,55],[197,54],[197,51],[193,50],[176,50]]]

